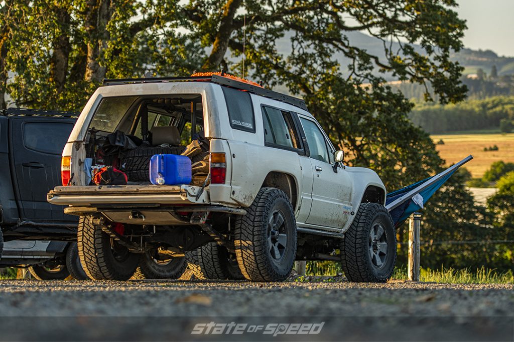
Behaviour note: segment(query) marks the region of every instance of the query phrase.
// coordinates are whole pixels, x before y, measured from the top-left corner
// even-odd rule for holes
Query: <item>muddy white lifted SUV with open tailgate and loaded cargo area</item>
[[[199,137],[207,176],[150,183],[152,155],[180,154]],[[91,163],[126,172],[127,184],[94,185]],[[351,281],[393,272],[378,175],[345,166],[303,100],[223,73],[106,80],[69,137],[62,179],[48,201],[80,216],[79,255],[93,279],[128,279],[142,258],[169,277],[185,261],[207,279],[280,281],[295,260],[340,261]]]

